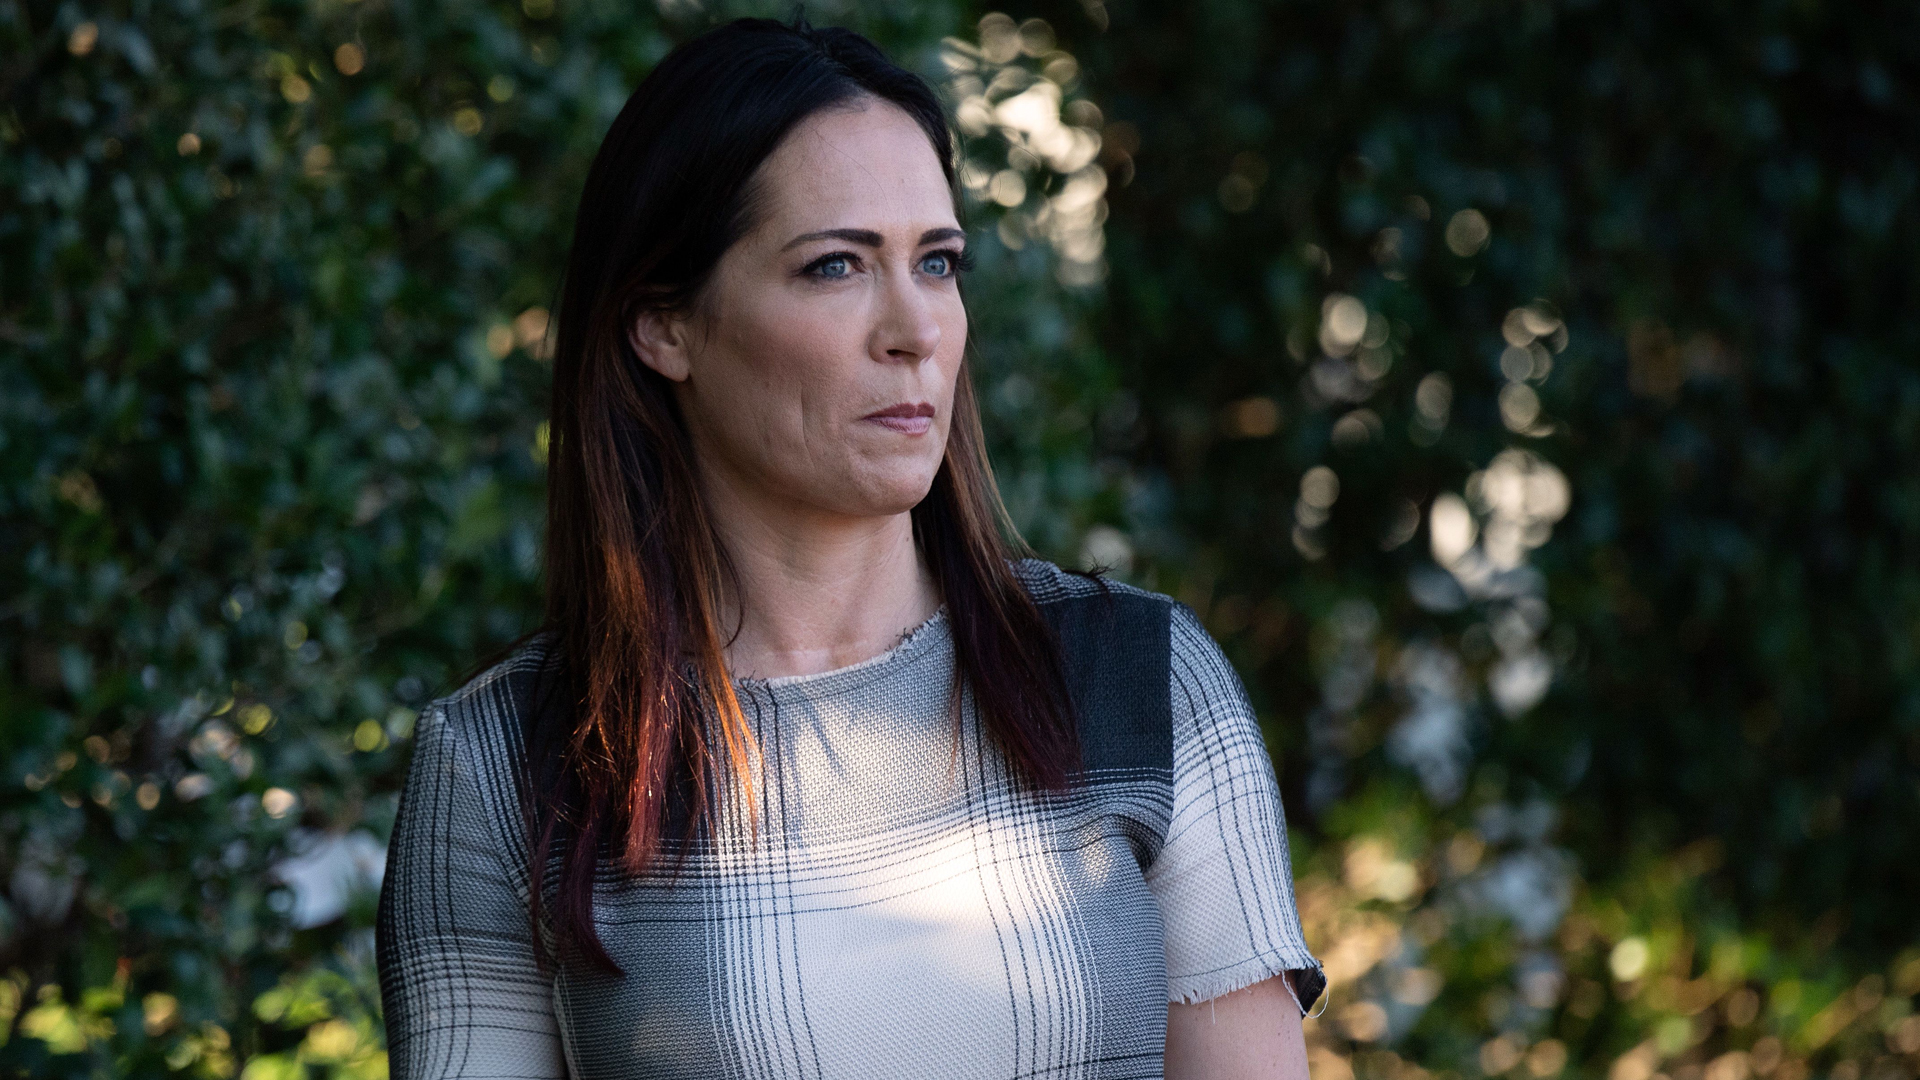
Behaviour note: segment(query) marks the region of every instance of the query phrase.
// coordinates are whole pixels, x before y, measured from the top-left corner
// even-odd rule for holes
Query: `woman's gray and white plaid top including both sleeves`
[[[536,638],[417,728],[380,896],[396,1080],[1160,1076],[1167,1001],[1283,970],[1300,934],[1273,765],[1238,678],[1164,596],[1027,561],[1087,773],[1037,799],[964,698],[945,609],[866,663],[739,684],[762,757],[682,876],[603,867],[624,978],[541,976],[515,686]]]

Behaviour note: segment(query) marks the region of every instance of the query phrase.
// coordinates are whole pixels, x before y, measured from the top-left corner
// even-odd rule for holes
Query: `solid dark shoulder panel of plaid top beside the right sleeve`
[[[1173,601],[1033,563],[1021,563],[1021,580],[1060,638],[1085,767],[1171,776]]]

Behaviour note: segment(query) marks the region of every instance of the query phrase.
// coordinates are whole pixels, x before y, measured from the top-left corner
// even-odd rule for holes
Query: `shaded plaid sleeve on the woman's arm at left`
[[[394,1080],[566,1076],[501,799],[476,780],[499,771],[476,769],[465,734],[440,703],[415,728],[376,926],[388,1065]]]

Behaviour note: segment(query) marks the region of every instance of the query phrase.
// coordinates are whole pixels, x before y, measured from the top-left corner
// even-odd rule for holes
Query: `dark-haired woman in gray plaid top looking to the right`
[[[950,144],[866,38],[762,19],[609,131],[547,621],[417,728],[394,1076],[1304,1080],[1325,980],[1233,669],[1004,538]]]

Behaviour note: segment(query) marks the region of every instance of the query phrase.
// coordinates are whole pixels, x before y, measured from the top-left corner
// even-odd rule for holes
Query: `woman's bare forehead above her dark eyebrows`
[[[766,225],[778,231],[885,233],[956,223],[927,133],[887,102],[866,100],[803,119],[760,165],[758,179]]]

